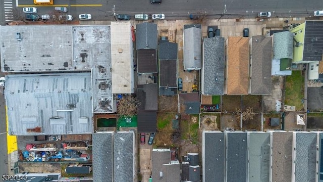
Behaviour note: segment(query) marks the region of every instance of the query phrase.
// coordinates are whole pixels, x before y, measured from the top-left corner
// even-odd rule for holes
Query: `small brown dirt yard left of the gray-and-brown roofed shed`
[[[178,97],[158,96],[158,111],[178,112]]]

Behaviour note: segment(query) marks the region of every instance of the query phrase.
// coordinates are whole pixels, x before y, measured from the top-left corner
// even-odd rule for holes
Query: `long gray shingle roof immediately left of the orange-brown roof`
[[[224,89],[224,38],[204,38],[202,94],[223,95]]]

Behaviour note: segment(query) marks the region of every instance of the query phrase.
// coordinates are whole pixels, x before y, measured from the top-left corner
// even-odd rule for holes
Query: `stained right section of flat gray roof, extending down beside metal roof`
[[[113,113],[110,26],[74,26],[74,68],[92,69],[93,112]]]

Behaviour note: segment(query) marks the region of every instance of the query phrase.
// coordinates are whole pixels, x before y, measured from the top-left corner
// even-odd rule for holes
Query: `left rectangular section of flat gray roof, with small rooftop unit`
[[[72,26],[0,26],[0,40],[4,72],[72,69]]]

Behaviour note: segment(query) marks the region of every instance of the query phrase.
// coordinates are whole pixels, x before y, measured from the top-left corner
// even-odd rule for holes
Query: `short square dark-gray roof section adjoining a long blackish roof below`
[[[159,60],[177,60],[177,43],[159,43]]]

